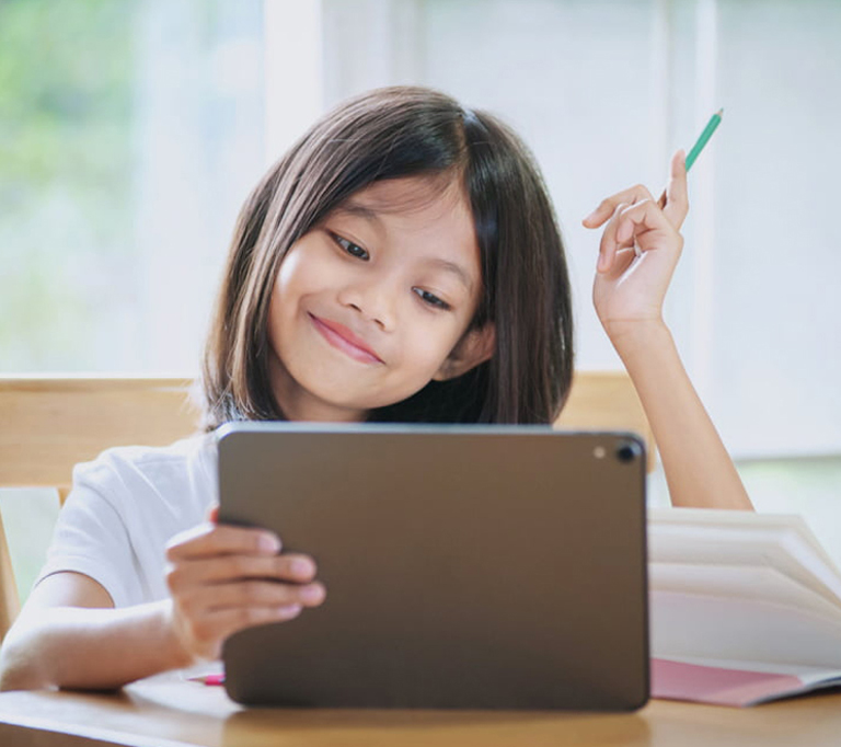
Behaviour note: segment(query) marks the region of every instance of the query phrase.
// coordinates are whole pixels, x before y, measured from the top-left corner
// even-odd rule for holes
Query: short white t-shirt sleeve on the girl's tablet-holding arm
[[[55,573],[90,576],[111,595],[115,607],[138,604],[139,588],[125,506],[130,497],[107,461],[73,469],[73,486],[59,512],[47,561],[36,583]]]

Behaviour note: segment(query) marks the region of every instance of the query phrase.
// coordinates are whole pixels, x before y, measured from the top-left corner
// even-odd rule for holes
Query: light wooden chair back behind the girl
[[[0,487],[56,489],[64,502],[76,463],[110,446],[163,446],[188,436],[198,421],[191,386],[173,378],[0,378]],[[629,429],[652,444],[622,372],[578,373],[556,426]],[[0,516],[0,640],[19,609]]]

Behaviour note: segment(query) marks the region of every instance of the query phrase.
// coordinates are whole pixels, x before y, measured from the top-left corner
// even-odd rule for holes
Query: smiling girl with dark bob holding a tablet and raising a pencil
[[[631,187],[585,219],[604,227],[594,300],[672,502],[750,508],[661,318],[688,210],[682,152],[666,195],[660,206]],[[324,600],[311,558],[215,524],[218,425],[549,424],[572,372],[563,243],[517,137],[420,88],[341,105],[242,209],[205,354],[208,433],[77,468],[0,685],[117,687],[216,658],[232,633]]]

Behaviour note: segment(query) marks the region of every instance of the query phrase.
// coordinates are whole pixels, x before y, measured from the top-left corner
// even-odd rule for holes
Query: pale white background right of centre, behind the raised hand
[[[841,3],[323,0],[325,104],[430,84],[512,124],[563,225],[578,365],[619,360],[580,218],[725,118],[690,175],[667,317],[736,456],[841,452]]]

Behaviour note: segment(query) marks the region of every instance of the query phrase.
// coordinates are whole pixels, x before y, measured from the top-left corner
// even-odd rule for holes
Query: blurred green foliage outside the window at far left
[[[136,0],[0,0],[0,370],[78,367],[131,246]]]

